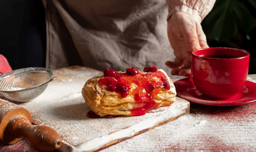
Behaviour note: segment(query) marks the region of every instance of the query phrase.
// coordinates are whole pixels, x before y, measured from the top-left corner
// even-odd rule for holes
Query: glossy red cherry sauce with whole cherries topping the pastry
[[[103,78],[99,79],[101,85],[107,86],[109,91],[116,91],[122,98],[128,96],[132,84],[137,85],[132,90],[136,101],[131,110],[132,116],[142,116],[157,107],[158,103],[153,99],[162,87],[170,90],[168,78],[156,66],[145,67],[143,71],[147,73],[140,73],[135,67],[127,69],[126,73],[105,69]]]

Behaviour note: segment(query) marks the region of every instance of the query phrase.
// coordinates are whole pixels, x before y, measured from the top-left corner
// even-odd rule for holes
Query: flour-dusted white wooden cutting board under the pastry
[[[50,126],[60,134],[63,144],[58,151],[61,152],[95,151],[189,113],[189,102],[176,97],[170,107],[144,116],[88,118],[86,114],[90,109],[81,90],[89,78],[102,74],[82,66],[57,69],[54,70],[57,78],[39,97],[14,103],[28,109],[35,124]]]

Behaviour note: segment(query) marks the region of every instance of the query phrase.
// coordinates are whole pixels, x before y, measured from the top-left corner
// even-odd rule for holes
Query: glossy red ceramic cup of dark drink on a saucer
[[[191,55],[196,89],[214,98],[231,98],[242,90],[248,75],[249,52],[236,48],[211,47]]]

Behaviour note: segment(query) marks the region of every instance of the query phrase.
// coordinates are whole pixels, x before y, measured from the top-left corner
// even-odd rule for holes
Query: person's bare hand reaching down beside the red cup
[[[172,75],[191,77],[191,52],[209,47],[200,22],[188,13],[175,12],[168,20],[167,34],[176,58],[165,65]]]

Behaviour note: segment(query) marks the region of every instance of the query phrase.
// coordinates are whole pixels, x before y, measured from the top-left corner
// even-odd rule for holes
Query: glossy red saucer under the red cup
[[[180,79],[174,82],[177,97],[187,101],[212,106],[236,106],[256,102],[256,83],[246,81],[243,89],[234,97],[228,99],[216,99],[200,93],[192,78]]]

